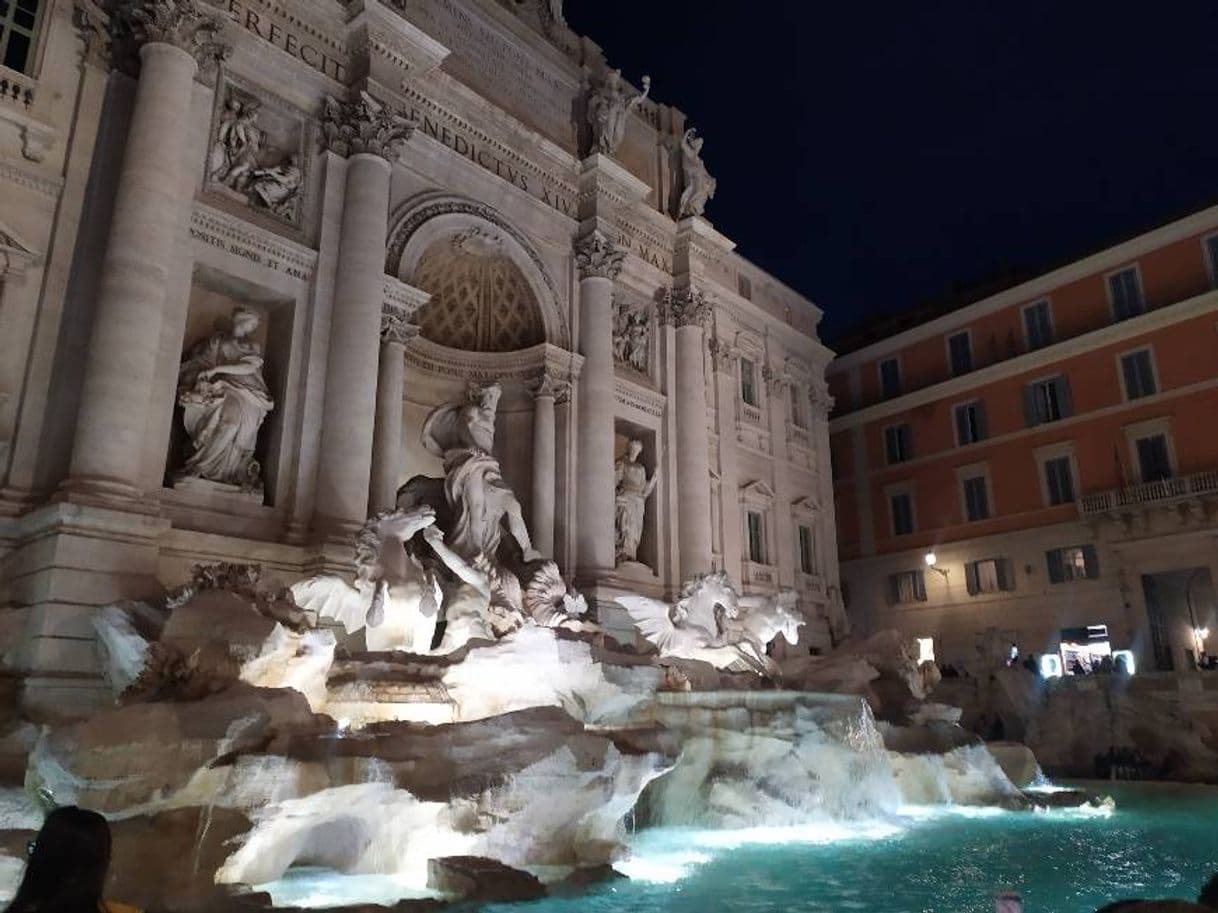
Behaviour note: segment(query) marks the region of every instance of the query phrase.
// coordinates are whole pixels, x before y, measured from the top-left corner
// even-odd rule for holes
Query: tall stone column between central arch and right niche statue
[[[575,245],[580,271],[579,484],[576,558],[585,579],[614,568],[613,282],[624,251],[598,231]]]

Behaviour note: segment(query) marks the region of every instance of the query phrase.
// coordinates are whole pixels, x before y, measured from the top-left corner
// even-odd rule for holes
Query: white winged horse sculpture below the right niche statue
[[[687,581],[670,606],[648,596],[618,596],[635,628],[660,657],[698,660],[727,672],[754,672],[767,678],[778,667],[765,654],[765,644],[780,632],[798,637],[799,621],[782,599],[753,601],[756,618],[742,616],[742,598],[722,571]],[[792,642],[794,643],[794,642]]]

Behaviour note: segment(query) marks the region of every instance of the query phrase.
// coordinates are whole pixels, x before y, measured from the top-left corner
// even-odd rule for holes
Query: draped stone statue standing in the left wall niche
[[[275,407],[262,376],[262,349],[251,336],[261,318],[238,307],[227,331],[196,343],[178,370],[178,404],[191,454],[177,480],[203,478],[262,493],[253,456],[262,422]]]

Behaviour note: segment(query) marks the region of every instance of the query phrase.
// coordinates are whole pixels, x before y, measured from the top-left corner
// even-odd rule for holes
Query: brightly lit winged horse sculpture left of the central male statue
[[[292,586],[292,598],[348,634],[365,629],[369,650],[431,652],[443,587],[438,566],[452,572],[456,584],[449,586],[460,588],[466,601],[485,606],[491,599],[486,573],[445,544],[435,521],[426,505],[382,510],[356,534],[353,582],[319,575]]]

